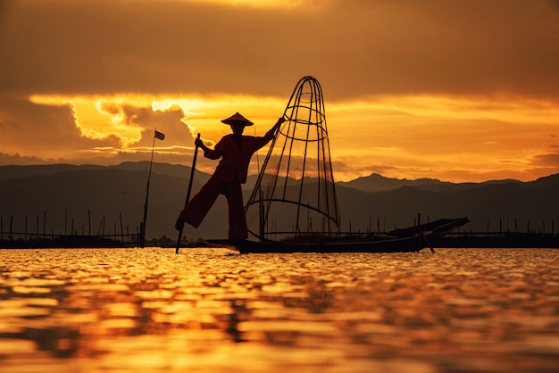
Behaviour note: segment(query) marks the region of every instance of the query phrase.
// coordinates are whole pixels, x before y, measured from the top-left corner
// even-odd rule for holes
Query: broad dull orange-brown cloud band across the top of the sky
[[[335,99],[559,95],[555,2],[311,4],[16,0],[0,26],[0,92],[285,95],[311,74]]]

